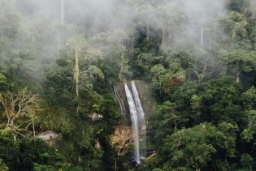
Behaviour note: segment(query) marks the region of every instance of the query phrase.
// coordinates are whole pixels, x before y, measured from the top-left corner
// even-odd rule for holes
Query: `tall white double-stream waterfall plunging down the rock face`
[[[134,81],[131,82],[131,85],[132,92],[127,83],[124,87],[132,121],[134,158],[137,163],[141,163],[141,160],[145,160],[145,113]]]

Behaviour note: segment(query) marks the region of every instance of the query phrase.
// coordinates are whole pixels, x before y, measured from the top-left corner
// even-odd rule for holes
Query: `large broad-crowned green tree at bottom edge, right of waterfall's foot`
[[[210,142],[210,134],[214,131],[217,131],[215,126],[202,123],[193,128],[177,130],[167,136],[163,150],[166,154],[170,153],[164,169],[179,169],[184,165],[190,169],[201,170],[212,160],[211,155],[217,152],[215,144]]]

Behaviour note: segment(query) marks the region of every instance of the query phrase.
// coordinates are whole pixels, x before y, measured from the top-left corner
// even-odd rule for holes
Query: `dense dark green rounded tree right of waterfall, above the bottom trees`
[[[229,77],[214,79],[203,86],[202,116],[213,123],[244,121],[240,106],[241,89]]]

